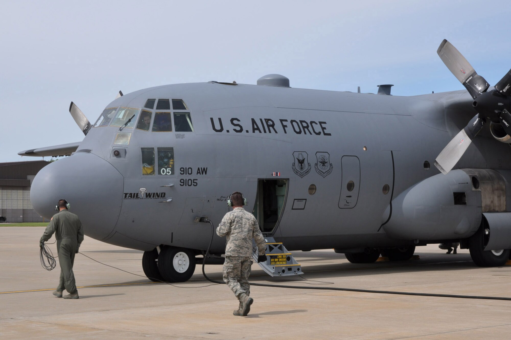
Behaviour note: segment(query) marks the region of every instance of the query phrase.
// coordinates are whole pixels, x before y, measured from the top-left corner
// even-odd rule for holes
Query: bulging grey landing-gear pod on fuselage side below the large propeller
[[[432,176],[392,201],[383,229],[398,239],[467,238],[479,228],[483,212],[506,211],[505,182],[492,169],[457,169]],[[389,213],[390,206],[384,216]]]

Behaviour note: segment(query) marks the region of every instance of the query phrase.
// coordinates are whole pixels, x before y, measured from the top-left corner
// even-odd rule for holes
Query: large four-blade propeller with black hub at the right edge
[[[449,41],[444,39],[436,53],[469,91],[474,99],[473,106],[477,111],[469,124],[451,139],[435,159],[435,166],[443,174],[447,174],[467,151],[474,137],[486,123],[486,119],[490,120],[492,126],[496,126],[495,129],[503,131],[501,134],[504,137],[496,137],[498,140],[510,140],[511,114],[509,111],[511,111],[511,107],[508,95],[511,94],[511,70],[495,85],[494,90],[487,91],[490,85],[477,74],[467,59]]]

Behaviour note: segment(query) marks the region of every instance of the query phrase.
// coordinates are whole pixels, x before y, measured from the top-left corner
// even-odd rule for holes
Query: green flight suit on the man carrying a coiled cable
[[[48,241],[53,233],[57,239],[57,254],[60,263],[60,279],[57,290],[61,292],[65,288],[67,292],[75,293],[77,289],[73,263],[75,262],[75,253],[83,241],[82,223],[74,213],[62,210],[53,215],[40,241]]]

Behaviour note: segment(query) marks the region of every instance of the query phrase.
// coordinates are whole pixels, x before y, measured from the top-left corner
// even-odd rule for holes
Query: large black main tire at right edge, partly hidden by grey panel
[[[469,238],[469,250],[472,261],[480,267],[499,267],[509,259],[509,249],[484,250],[488,243],[484,235],[485,224],[483,223],[476,233]]]

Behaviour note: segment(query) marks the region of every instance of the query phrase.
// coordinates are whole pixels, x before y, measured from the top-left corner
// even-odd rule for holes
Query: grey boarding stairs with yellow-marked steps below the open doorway
[[[301,265],[287,251],[282,242],[275,242],[273,237],[265,237],[266,262],[259,262],[261,268],[271,277],[293,276],[301,274]],[[258,249],[252,241],[252,258],[257,262]]]

